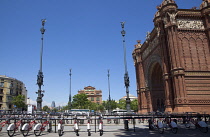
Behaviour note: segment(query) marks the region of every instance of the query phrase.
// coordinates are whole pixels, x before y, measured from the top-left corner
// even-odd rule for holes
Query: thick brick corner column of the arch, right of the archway
[[[168,13],[168,12],[167,12]],[[170,16],[177,13],[168,13]],[[175,19],[175,16],[174,16]],[[190,111],[189,107],[185,107],[187,104],[187,94],[185,87],[185,78],[184,78],[184,68],[181,63],[180,55],[180,45],[178,45],[178,34],[177,34],[177,25],[175,21],[170,19],[170,22],[166,25],[166,36],[167,36],[167,45],[168,52],[171,62],[171,78],[174,91],[174,103],[176,112]]]

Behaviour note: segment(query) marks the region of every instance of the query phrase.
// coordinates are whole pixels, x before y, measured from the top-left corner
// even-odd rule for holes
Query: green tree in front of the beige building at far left
[[[12,97],[12,103],[16,105],[17,108],[26,108],[24,95],[19,94],[17,96]]]

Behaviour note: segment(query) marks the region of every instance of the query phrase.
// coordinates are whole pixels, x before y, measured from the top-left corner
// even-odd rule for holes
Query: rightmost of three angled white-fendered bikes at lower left
[[[38,123],[38,124],[35,125],[35,127],[34,127],[34,134],[36,136],[40,136],[40,134],[45,130],[45,128],[47,126],[49,126],[47,131],[50,133],[52,129],[51,129],[51,123],[50,123],[49,117],[47,118],[47,120],[45,122]]]

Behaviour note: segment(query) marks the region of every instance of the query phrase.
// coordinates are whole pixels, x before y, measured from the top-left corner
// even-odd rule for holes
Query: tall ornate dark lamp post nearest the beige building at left
[[[42,94],[42,92],[44,91],[41,89],[41,87],[43,85],[43,78],[44,78],[44,75],[42,72],[42,55],[43,55],[43,41],[44,41],[44,32],[45,32],[44,25],[45,25],[46,19],[42,19],[41,21],[42,21],[42,28],[40,29],[40,31],[42,34],[42,38],[41,38],[42,44],[41,44],[41,50],[40,50],[40,69],[37,75],[37,85],[39,86],[38,92],[36,92],[38,94],[38,97],[36,99],[37,111],[42,110],[42,97],[44,96],[44,94]]]

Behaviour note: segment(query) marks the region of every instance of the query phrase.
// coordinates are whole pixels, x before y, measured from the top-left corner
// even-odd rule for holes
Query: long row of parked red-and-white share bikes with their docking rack
[[[73,127],[73,132],[79,136],[80,126],[82,126],[82,130],[86,126],[85,130],[87,136],[91,136],[91,127],[93,129],[95,127],[95,133],[99,133],[100,136],[103,135],[103,122],[107,121],[107,125],[124,125],[124,129],[126,131],[129,130],[129,126],[133,124],[133,131],[135,132],[135,124],[136,120],[140,121],[140,123],[146,123],[149,125],[149,129],[156,129],[160,131],[159,133],[163,133],[164,130],[171,130],[172,133],[176,134],[178,131],[177,124],[186,125],[187,128],[196,127],[201,132],[208,132],[208,124],[210,122],[209,114],[163,114],[163,115],[68,115],[63,114],[60,115],[30,115],[30,114],[1,114],[0,120],[3,121],[0,123],[0,129],[3,131],[7,131],[9,136],[13,136],[17,131],[17,127],[20,125],[21,133],[24,136],[27,136],[31,131],[34,132],[36,136],[41,135],[42,132],[53,132],[58,133],[59,136],[65,134],[65,130],[67,132],[71,132],[67,126]],[[68,121],[73,121],[69,122]],[[95,121],[95,122],[94,122]],[[113,123],[112,123],[113,121]],[[124,123],[122,123],[122,121]],[[121,124],[120,124],[121,123]],[[113,125],[114,124],[114,125]],[[8,127],[5,129],[5,127]],[[20,129],[20,128],[19,128]],[[64,130],[65,129],[65,130]],[[163,131],[163,132],[162,132]],[[82,131],[83,132],[83,131]]]

